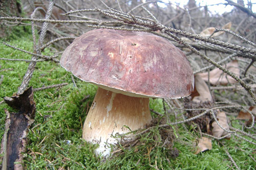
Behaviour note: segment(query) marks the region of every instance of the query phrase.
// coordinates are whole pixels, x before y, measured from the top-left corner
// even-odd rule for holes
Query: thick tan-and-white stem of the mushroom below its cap
[[[108,156],[110,145],[120,141],[112,135],[131,132],[126,127],[132,131],[144,128],[151,120],[148,98],[127,96],[99,87],[84,122],[82,138],[99,144],[95,150],[97,155]]]

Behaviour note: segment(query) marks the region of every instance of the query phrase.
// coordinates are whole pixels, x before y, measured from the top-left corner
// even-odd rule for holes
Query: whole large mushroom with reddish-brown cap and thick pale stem
[[[182,98],[194,89],[186,56],[151,33],[97,29],[76,38],[60,64],[82,81],[98,86],[83,124],[82,138],[111,152],[113,137],[144,128],[152,120],[149,98]],[[129,138],[127,138],[129,139]]]

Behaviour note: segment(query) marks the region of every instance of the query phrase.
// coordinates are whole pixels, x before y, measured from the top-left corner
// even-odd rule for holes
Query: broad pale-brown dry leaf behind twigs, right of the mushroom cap
[[[237,77],[240,77],[240,70],[238,68],[238,61],[233,60],[226,65],[223,66],[224,68],[228,69],[230,72],[235,74]],[[204,81],[208,81],[208,72],[199,73],[198,75],[201,76],[201,78]],[[237,81],[228,76],[226,73],[222,72],[219,68],[215,68],[209,72],[209,81],[210,84],[213,85],[227,85],[228,83],[236,83]]]

